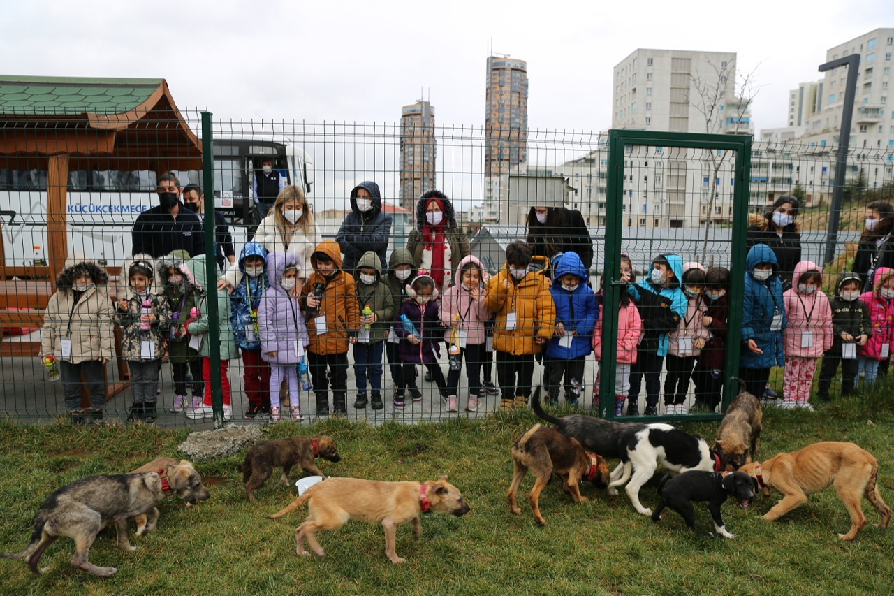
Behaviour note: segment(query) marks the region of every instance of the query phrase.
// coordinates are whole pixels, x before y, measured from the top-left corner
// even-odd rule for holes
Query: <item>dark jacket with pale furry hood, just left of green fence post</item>
[[[181,332],[181,327],[190,318],[190,311],[198,303],[198,296],[205,290],[196,283],[196,277],[186,264],[190,260],[187,251],[173,251],[166,257],[156,259],[156,275],[164,280],[164,298],[171,309],[171,331],[168,335],[168,354],[176,364],[190,362],[198,358],[198,352],[190,347],[190,336]],[[173,286],[167,283],[169,269],[177,269],[183,276],[183,284]]]

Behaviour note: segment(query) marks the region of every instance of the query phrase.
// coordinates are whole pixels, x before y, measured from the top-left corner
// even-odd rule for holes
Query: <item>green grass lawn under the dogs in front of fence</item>
[[[894,392],[890,381],[869,394],[835,402],[816,413],[767,408],[763,456],[821,440],[853,441],[881,463],[883,498],[894,505]],[[318,461],[325,473],[376,480],[426,480],[449,474],[468,500],[464,517],[423,517],[423,537],[410,525],[398,529],[397,552],[409,562],[392,565],[384,556],[384,531],[350,521],[323,532],[325,558],[295,554],[295,528],[307,507],[278,520],[274,513],[295,497],[294,486],[274,479],[249,504],[236,466],[240,456],[197,463],[212,498],[184,507],[174,498],[159,507],[156,532],[131,541],[126,553],[114,546],[114,529],[97,538],[90,559],[114,566],[101,579],[69,565],[73,543],[60,539],[41,564],[53,569],[31,575],[21,560],[0,560],[0,590],[10,593],[890,593],[894,530],[874,527],[878,515],[864,503],[869,524],[853,543],[836,532],[850,525],[834,490],[810,498],[782,520],[762,515],[779,498],[759,498],[747,510],[723,507],[735,540],[687,532],[668,510],[661,524],[637,514],[626,494],[608,498],[588,485],[591,500],[574,504],[552,481],[540,506],[547,524],[535,524],[527,505],[533,477],[522,484],[522,515],[506,501],[512,465],[510,446],[535,422],[532,413],[510,413],[471,422],[457,420],[415,427],[373,428],[343,420],[319,424],[316,434],[336,439],[342,462]],[[715,423],[686,430],[713,438]],[[308,433],[290,422],[271,428],[279,438]],[[30,540],[30,522],[51,491],[82,477],[123,473],[149,459],[179,456],[189,430],[152,427],[80,429],[69,426],[0,425],[0,550],[17,552]],[[613,464],[613,462],[611,462]],[[662,471],[659,471],[661,474]],[[293,478],[293,481],[297,476]],[[522,495],[519,495],[522,497]],[[653,486],[640,491],[654,507]],[[696,524],[713,530],[707,508],[696,506]],[[132,528],[132,524],[131,524]],[[132,532],[132,531],[131,531]]]

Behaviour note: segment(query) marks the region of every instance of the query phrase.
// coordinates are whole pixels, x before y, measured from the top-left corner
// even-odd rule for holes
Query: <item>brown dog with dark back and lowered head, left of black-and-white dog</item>
[[[546,488],[553,472],[561,476],[564,481],[562,489],[571,495],[575,503],[589,500],[580,494],[578,483],[582,478],[593,481],[597,486],[602,482],[603,488],[609,478],[609,467],[601,456],[588,456],[577,438],[569,439],[555,429],[542,429],[540,424],[532,426],[512,446],[512,463],[515,475],[506,493],[510,511],[516,515],[521,513],[516,496],[521,480],[530,470],[536,481],[528,499],[534,510],[534,520],[540,525],[546,524],[544,516],[540,514],[540,493]]]

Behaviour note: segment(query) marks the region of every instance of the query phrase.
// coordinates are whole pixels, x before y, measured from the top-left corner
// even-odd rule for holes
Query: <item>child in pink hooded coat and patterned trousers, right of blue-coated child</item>
[[[789,325],[785,328],[784,408],[813,410],[808,403],[816,362],[831,349],[832,310],[822,292],[822,269],[813,261],[795,266],[791,287],[782,294]]]

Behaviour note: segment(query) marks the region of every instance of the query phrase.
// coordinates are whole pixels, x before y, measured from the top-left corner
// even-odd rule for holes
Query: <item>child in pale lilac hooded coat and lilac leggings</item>
[[[308,329],[300,309],[300,296],[292,296],[301,287],[298,276],[304,263],[298,254],[271,252],[267,255],[267,279],[270,287],[261,296],[257,323],[261,332],[261,358],[270,363],[270,421],[280,420],[280,386],[289,384],[291,418],[301,420],[297,364],[305,358]]]

